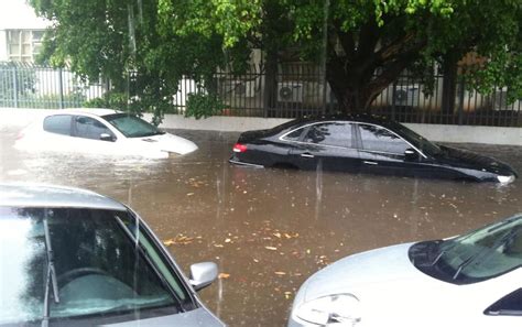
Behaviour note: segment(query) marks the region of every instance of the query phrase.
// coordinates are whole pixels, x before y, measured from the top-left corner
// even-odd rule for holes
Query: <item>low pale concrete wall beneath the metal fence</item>
[[[23,127],[39,117],[43,117],[53,111],[58,110],[0,108],[0,127]],[[150,120],[151,115],[145,115],[144,118]],[[166,115],[161,128],[242,132],[254,129],[269,129],[285,121],[289,120],[251,117],[210,117],[207,119],[196,120],[194,118],[184,118],[183,116],[177,115]],[[405,126],[427,139],[438,142],[508,144],[522,146],[522,128],[422,123],[405,123]]]

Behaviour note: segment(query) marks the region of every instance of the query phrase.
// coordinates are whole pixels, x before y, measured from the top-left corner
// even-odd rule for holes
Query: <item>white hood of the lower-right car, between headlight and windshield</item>
[[[329,294],[354,294],[357,290],[390,282],[412,283],[415,280],[423,280],[439,283],[410,262],[407,251],[412,244],[377,249],[336,261],[305,282],[301,299],[307,302]]]

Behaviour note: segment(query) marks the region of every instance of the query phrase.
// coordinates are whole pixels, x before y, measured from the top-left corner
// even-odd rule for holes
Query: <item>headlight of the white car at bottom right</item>
[[[295,315],[322,326],[356,326],[361,320],[359,299],[351,294],[335,294],[302,304]]]

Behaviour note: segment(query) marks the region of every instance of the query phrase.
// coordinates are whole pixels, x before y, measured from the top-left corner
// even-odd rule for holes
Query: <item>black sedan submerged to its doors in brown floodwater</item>
[[[230,162],[251,166],[511,183],[496,159],[429,142],[377,116],[324,116],[241,133]]]

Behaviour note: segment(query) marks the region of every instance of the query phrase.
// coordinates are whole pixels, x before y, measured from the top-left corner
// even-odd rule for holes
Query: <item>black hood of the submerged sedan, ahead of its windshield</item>
[[[516,172],[508,164],[494,157],[480,155],[471,151],[439,145],[442,153],[437,155],[437,161],[443,164],[458,166],[463,168],[475,168],[491,172],[499,175],[514,175]]]

